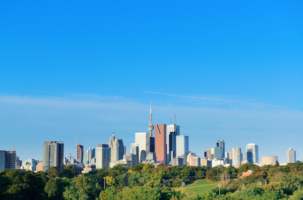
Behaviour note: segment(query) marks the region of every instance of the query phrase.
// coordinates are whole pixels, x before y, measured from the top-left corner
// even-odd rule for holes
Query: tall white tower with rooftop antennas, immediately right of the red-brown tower
[[[170,123],[172,123],[171,117]],[[171,157],[176,157],[176,136],[180,135],[180,126],[176,124],[167,125],[166,134],[167,164],[169,164]]]

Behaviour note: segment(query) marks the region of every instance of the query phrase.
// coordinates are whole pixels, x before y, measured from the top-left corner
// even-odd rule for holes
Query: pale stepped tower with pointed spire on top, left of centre
[[[108,146],[110,148],[110,162],[123,159],[124,145],[122,139],[117,139],[113,135],[110,137]]]

